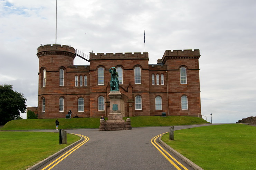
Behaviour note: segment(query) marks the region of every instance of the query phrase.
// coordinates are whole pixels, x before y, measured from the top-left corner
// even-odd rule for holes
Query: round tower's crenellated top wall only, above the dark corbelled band
[[[38,53],[45,51],[65,51],[75,54],[75,49],[73,47],[60,44],[46,44],[37,48]]]

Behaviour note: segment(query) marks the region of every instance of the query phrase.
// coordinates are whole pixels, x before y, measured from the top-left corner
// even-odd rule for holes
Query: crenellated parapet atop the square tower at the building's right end
[[[165,63],[167,59],[199,59],[199,57],[200,50],[165,50],[162,63]]]

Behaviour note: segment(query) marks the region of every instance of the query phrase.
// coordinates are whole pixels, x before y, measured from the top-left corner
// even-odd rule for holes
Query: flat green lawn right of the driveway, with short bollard
[[[174,131],[161,138],[205,170],[256,170],[256,127],[224,124]]]

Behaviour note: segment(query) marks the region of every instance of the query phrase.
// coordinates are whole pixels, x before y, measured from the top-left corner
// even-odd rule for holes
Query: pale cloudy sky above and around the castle
[[[255,0],[58,0],[57,34],[56,0],[0,0],[0,84],[27,107],[38,106],[37,48],[55,43],[87,55],[146,51],[150,64],[165,50],[199,49],[203,118],[256,116]]]

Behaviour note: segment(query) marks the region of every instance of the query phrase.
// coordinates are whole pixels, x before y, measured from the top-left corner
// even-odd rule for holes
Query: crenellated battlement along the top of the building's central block
[[[122,52],[117,53],[90,53],[90,60],[109,60],[109,59],[148,59],[149,53],[148,52]]]

